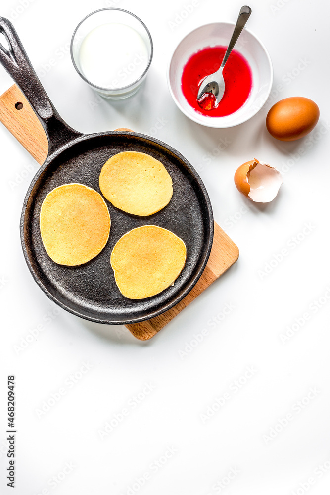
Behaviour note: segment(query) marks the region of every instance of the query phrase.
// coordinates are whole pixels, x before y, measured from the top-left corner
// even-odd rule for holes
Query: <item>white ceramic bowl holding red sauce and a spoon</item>
[[[181,78],[191,55],[206,47],[227,47],[234,26],[231,22],[214,22],[191,31],[174,50],[168,66],[167,83],[175,103],[189,119],[207,127],[233,127],[245,122],[264,105],[272,88],[273,66],[269,53],[261,41],[244,28],[234,48],[245,57],[252,71],[252,90],[244,105],[226,117],[208,117],[197,113],[184,97]]]

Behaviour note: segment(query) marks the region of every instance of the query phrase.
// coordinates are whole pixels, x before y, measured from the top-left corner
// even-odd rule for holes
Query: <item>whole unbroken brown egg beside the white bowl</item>
[[[284,98],[269,110],[266,127],[273,138],[295,141],[311,132],[319,117],[319,107],[311,99],[300,96]]]

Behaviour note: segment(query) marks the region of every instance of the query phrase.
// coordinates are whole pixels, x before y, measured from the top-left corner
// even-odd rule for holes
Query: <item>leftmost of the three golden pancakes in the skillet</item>
[[[59,265],[81,265],[97,256],[109,239],[110,224],[104,199],[83,184],[56,187],[41,206],[41,238]]]

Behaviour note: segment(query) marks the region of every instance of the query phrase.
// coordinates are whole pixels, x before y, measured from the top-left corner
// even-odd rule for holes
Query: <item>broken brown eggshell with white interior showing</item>
[[[234,176],[236,188],[246,198],[258,203],[269,203],[283,184],[280,172],[256,159],[237,168]]]

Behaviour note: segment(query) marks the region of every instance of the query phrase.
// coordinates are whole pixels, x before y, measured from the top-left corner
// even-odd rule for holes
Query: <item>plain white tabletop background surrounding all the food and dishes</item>
[[[199,0],[182,22],[189,0],[1,3],[1,15],[12,18],[36,71],[56,60],[41,80],[64,120],[87,133],[130,127],[178,149],[199,170],[216,221],[240,249],[236,265],[148,342],[125,327],[57,309],[33,281],[20,245],[20,212],[33,172],[23,181],[21,174],[37,164],[0,125],[1,494],[329,495],[330,7],[321,0],[276,1],[252,0],[248,28],[269,50],[273,88],[282,84],[282,90],[250,121],[221,130],[199,126],[177,109],[166,67],[189,31],[235,21],[241,2]],[[146,85],[116,103],[98,99],[75,72],[68,50],[78,22],[106,6],[137,14],[154,41]],[[1,93],[11,84],[0,68]],[[267,133],[265,117],[289,96],[315,100],[321,116],[308,138],[283,143]],[[166,123],[156,131],[159,119]],[[219,151],[223,142],[229,144]],[[266,206],[245,200],[234,185],[236,168],[253,157],[285,171],[279,196]],[[306,223],[309,232],[302,234]],[[274,261],[282,249],[287,255]],[[273,268],[265,274],[267,264]],[[222,318],[226,305],[232,310]],[[218,313],[222,321],[211,325]],[[304,324],[296,323],[283,342],[281,334],[295,319]],[[196,346],[202,329],[208,333]],[[90,369],[82,374],[84,362]],[[248,367],[253,376],[242,378]],[[12,374],[15,492],[5,480],[6,377]],[[145,383],[153,389],[148,394]],[[44,401],[60,388],[65,394],[40,417]],[[226,392],[220,407],[216,399]],[[205,419],[212,408],[218,410]],[[123,420],[101,439],[99,431],[115,424],[115,415]]]

